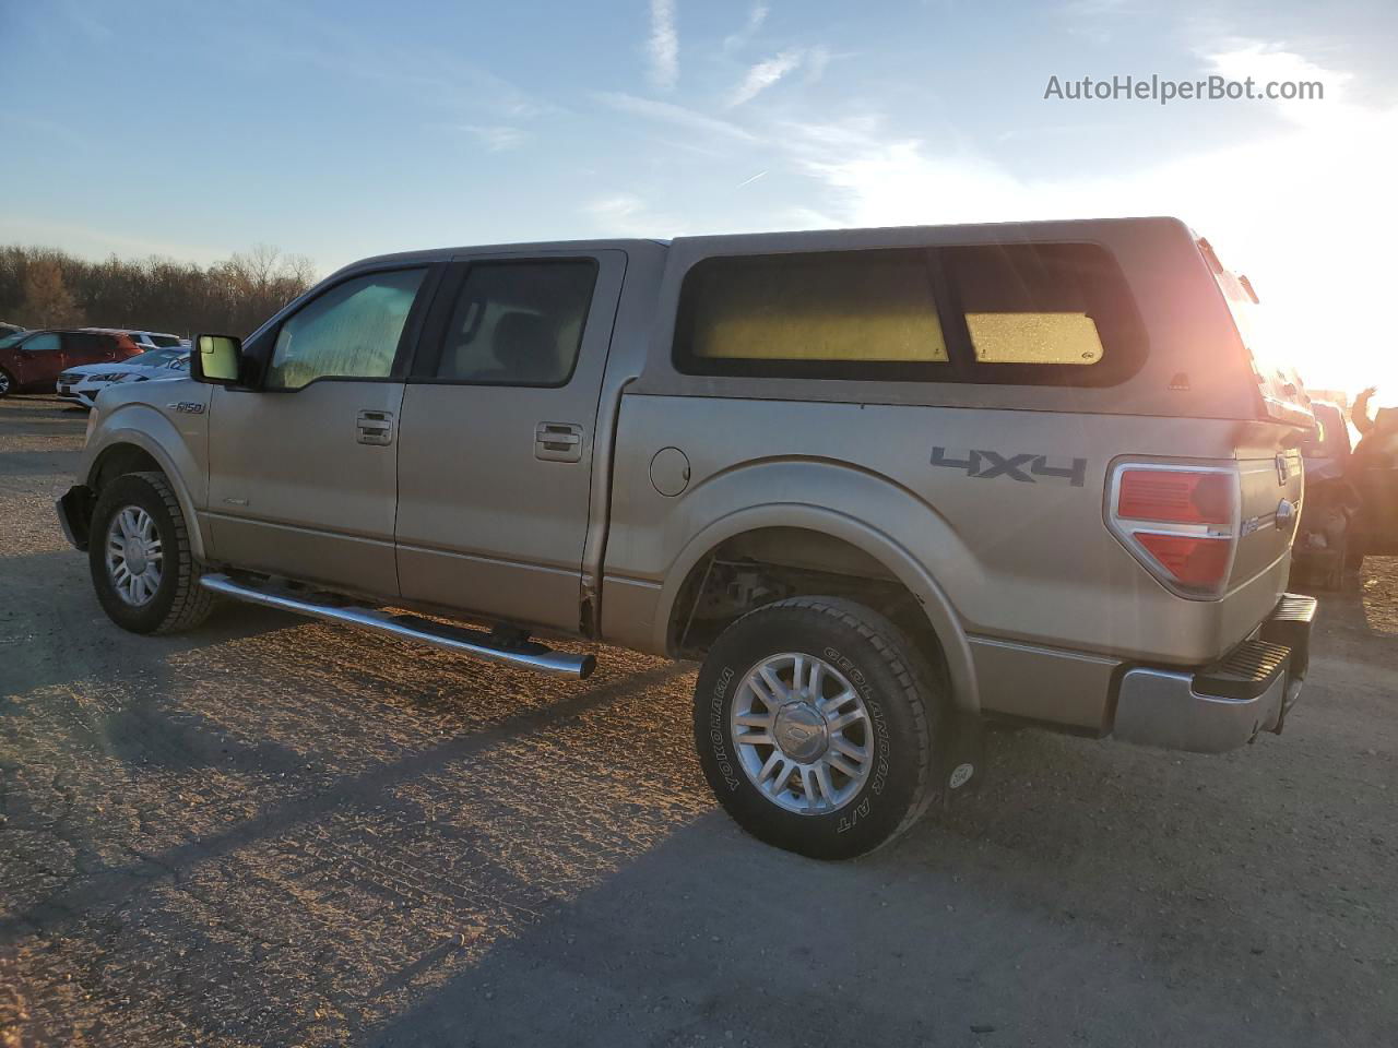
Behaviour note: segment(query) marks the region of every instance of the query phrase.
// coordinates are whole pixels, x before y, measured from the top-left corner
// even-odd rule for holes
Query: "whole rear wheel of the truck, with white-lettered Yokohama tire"
[[[759,840],[812,858],[863,855],[932,799],[934,679],[870,608],[833,597],[769,604],[724,630],[699,671],[699,762]]]

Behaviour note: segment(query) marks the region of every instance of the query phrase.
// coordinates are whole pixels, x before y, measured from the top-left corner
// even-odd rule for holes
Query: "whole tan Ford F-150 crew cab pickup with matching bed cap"
[[[137,633],[225,595],[579,678],[544,640],[702,660],[724,808],[857,855],[988,718],[1281,731],[1313,419],[1255,300],[1167,218],[368,259],[102,393],[59,516]]]

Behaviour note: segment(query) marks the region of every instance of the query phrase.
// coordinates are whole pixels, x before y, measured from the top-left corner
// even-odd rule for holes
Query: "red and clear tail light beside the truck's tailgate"
[[[1219,597],[1239,538],[1236,467],[1123,463],[1111,474],[1107,525],[1181,597]]]

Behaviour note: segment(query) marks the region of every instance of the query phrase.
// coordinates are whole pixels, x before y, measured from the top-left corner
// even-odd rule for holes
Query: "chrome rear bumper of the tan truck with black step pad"
[[[1202,669],[1139,667],[1121,676],[1114,738],[1223,753],[1281,732],[1310,664],[1316,598],[1286,594],[1257,634]]]

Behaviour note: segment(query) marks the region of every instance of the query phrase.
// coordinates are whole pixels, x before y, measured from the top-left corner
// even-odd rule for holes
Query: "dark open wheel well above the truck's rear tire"
[[[668,647],[702,657],[730,623],[788,597],[844,597],[893,620],[938,665],[941,643],[921,602],[881,560],[808,528],[758,528],[724,539],[685,577],[670,613]]]

